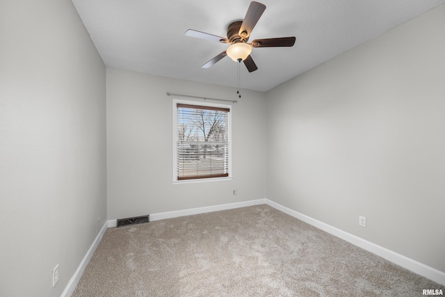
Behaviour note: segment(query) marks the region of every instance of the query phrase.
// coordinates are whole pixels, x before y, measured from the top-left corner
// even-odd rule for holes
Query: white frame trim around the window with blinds
[[[172,142],[172,146],[173,146],[173,156],[172,156],[172,160],[173,160],[173,169],[172,169],[172,176],[173,176],[173,184],[191,184],[191,183],[198,183],[198,182],[220,182],[220,181],[227,181],[227,180],[232,180],[232,105],[228,105],[228,104],[216,104],[213,102],[202,102],[202,101],[192,101],[192,100],[184,100],[184,99],[173,99],[173,105],[172,105],[172,109],[173,109],[173,142]],[[185,179],[185,180],[178,180],[177,179],[177,136],[178,136],[178,132],[177,132],[177,127],[178,127],[178,122],[177,122],[177,104],[191,104],[191,105],[196,105],[196,106],[209,106],[209,107],[217,107],[217,108],[223,108],[223,109],[230,109],[228,115],[228,133],[229,133],[229,147],[228,147],[228,151],[229,151],[229,160],[228,160],[228,166],[229,166],[229,170],[228,170],[228,176],[227,177],[211,177],[211,178],[202,178],[202,179]]]

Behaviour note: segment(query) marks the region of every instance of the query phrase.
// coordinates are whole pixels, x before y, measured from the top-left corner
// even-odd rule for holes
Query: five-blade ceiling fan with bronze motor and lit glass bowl
[[[248,12],[245,13],[243,21],[232,22],[232,24],[229,24],[227,27],[227,38],[196,30],[187,30],[187,36],[230,44],[227,50],[223,51],[221,54],[202,65],[202,67],[209,68],[225,56],[229,56],[233,61],[238,61],[240,63],[243,61],[248,71],[253,72],[257,70],[258,67],[255,65],[252,56],[250,56],[252,47],[292,47],[296,40],[295,36],[255,39],[248,43],[250,33],[252,33],[254,26],[264,13],[264,10],[266,10],[266,6],[264,4],[256,1],[250,2]]]

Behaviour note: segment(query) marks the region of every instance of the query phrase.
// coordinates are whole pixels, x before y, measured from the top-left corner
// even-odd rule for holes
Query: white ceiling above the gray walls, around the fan
[[[258,70],[241,64],[241,88],[266,91],[445,0],[259,0],[266,5],[250,41],[296,36],[293,47],[254,48]],[[187,29],[226,37],[249,0],[72,0],[106,67],[236,87],[229,57],[201,66],[227,44],[191,38]],[[415,38],[415,36],[413,36]]]

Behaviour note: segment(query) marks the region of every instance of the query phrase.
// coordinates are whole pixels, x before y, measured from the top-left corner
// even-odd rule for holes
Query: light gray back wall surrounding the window
[[[245,90],[238,103],[228,102],[232,181],[172,184],[173,105],[166,93],[238,99],[236,90],[122,70],[106,74],[108,218],[265,197],[264,93]]]

